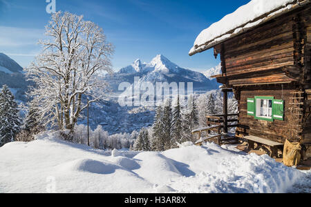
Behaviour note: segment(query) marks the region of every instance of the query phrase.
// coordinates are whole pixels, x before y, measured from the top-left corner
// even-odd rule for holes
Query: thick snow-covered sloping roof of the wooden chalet
[[[285,12],[294,10],[310,0],[252,0],[227,14],[220,21],[200,32],[189,55],[195,55],[216,46],[227,39],[246,32],[250,28],[265,23]]]

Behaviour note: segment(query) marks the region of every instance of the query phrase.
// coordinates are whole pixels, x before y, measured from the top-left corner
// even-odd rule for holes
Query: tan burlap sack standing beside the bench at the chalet
[[[298,166],[301,159],[301,145],[299,143],[290,143],[286,139],[283,151],[283,163],[285,166]]]

